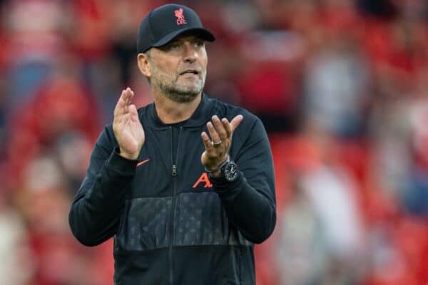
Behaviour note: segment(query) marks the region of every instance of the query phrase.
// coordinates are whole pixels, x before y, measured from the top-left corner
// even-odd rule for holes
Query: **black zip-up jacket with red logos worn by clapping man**
[[[229,152],[241,172],[233,183],[210,182],[200,163],[200,133],[215,114],[244,116]],[[276,220],[263,124],[203,95],[180,127],[175,151],[172,127],[153,104],[138,115],[146,133],[138,160],[118,155],[111,125],[98,138],[71,206],[73,234],[87,246],[114,237],[117,285],[255,284],[253,244],[270,236]]]

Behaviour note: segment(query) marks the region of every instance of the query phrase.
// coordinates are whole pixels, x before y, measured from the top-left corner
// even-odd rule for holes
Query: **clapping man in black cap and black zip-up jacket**
[[[82,244],[114,237],[115,284],[255,284],[253,244],[276,220],[272,155],[255,115],[202,92],[205,41],[186,6],[146,16],[138,67],[154,103],[136,110],[123,90],[71,206]]]

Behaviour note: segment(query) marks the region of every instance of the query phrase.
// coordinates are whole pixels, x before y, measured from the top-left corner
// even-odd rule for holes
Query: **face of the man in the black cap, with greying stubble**
[[[208,57],[205,43],[195,36],[178,36],[151,49],[151,84],[171,100],[190,102],[205,85]]]

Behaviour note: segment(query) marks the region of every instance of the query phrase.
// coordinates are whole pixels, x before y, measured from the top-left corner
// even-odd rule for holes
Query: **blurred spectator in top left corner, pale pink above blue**
[[[9,112],[31,100],[33,90],[51,74],[56,59],[68,49],[63,29],[70,20],[61,1],[8,1],[3,11],[6,59],[9,66]],[[68,15],[68,16],[67,16]]]

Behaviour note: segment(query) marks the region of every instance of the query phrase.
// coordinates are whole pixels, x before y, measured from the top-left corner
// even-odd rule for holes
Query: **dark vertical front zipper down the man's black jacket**
[[[171,133],[171,176],[173,176],[173,199],[171,202],[171,213],[170,213],[170,239],[169,239],[169,261],[170,261],[170,284],[174,284],[174,276],[173,276],[173,242],[174,242],[174,227],[175,227],[175,195],[177,192],[177,157],[178,157],[178,150],[179,150],[179,142],[180,142],[180,134],[181,134],[181,128],[178,132],[178,138],[177,138],[177,151],[175,152],[175,160],[173,157],[173,147],[174,147],[174,141],[173,141],[173,127],[170,127],[170,133]]]

